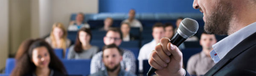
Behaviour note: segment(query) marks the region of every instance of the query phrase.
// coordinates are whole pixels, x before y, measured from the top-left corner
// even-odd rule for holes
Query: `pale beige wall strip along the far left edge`
[[[9,50],[9,1],[0,0],[0,68],[5,66]]]

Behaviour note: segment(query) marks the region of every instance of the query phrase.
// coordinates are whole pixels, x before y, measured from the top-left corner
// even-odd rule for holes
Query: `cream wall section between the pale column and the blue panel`
[[[98,0],[52,0],[52,23],[62,22],[66,27],[72,13],[98,13]]]

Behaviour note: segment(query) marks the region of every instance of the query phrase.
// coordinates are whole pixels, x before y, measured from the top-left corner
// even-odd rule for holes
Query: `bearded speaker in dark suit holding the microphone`
[[[207,33],[229,35],[212,46],[216,65],[205,76],[256,76],[256,0],[194,0],[193,8],[204,14]],[[182,52],[168,41],[160,40],[149,64],[160,76],[189,76]]]

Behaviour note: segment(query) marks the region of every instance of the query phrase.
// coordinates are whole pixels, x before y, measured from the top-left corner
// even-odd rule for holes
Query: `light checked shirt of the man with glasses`
[[[134,54],[128,49],[121,49],[123,50],[123,58],[120,62],[121,69],[127,70],[130,73],[135,73],[136,71],[136,64],[135,64],[135,56]],[[105,65],[102,61],[102,54],[103,52],[98,52],[95,54],[91,60],[90,65],[90,74],[96,73],[98,71],[105,70]]]

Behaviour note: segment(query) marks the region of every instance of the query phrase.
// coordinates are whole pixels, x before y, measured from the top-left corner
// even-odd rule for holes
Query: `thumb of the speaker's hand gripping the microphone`
[[[180,52],[180,49],[178,49],[177,46],[173,45],[172,43],[168,43],[168,50],[172,53],[172,56],[175,60],[178,62],[182,61],[182,53]]]

